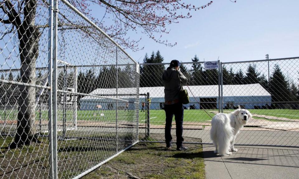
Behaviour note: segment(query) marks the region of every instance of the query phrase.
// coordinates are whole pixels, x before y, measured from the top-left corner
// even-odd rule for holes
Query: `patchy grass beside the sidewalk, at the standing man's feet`
[[[177,151],[176,145],[139,143],[123,152],[83,179],[192,179],[205,178],[202,145],[186,145],[187,151]]]

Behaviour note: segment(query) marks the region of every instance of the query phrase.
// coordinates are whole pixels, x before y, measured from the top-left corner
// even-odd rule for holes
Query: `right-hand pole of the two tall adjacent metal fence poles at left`
[[[54,0],[54,37],[53,37],[53,160],[54,178],[58,178],[57,165],[57,42],[58,42],[58,0]]]

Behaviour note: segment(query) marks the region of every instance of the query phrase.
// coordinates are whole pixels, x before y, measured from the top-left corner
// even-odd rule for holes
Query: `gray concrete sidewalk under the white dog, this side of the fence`
[[[238,152],[220,157],[203,145],[206,179],[298,179],[299,148],[235,146]]]

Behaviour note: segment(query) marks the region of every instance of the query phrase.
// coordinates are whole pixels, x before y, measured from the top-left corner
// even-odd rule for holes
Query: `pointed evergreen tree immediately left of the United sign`
[[[192,62],[199,62],[199,58],[197,55],[191,59]],[[202,71],[202,64],[201,63],[193,63],[191,69],[191,85],[204,85],[204,78],[203,78],[203,71]]]

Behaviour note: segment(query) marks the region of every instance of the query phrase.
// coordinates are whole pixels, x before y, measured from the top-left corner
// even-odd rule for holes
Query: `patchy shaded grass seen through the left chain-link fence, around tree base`
[[[72,131],[70,135],[82,137],[82,132]],[[57,141],[59,178],[75,177],[116,153],[115,135],[97,133],[96,136],[107,140]],[[88,135],[88,137],[92,137],[92,135]],[[124,141],[119,143],[119,148],[123,149],[129,145],[125,140],[131,136],[128,134],[128,136],[121,137]],[[32,143],[17,149],[8,148],[12,140],[12,137],[0,136],[0,176],[17,178],[17,175],[26,175],[28,178],[42,178],[49,172],[49,141],[47,137],[39,137],[40,143]]]

